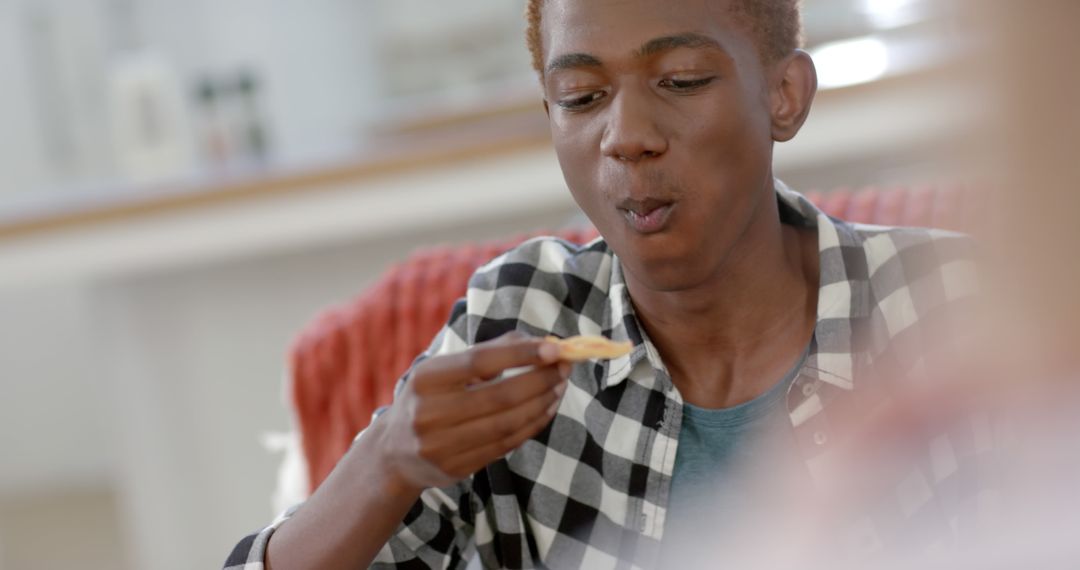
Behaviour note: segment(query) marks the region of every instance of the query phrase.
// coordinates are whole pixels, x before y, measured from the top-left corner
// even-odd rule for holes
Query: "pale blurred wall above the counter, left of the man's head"
[[[199,78],[246,68],[258,73],[265,89],[262,114],[276,160],[286,164],[333,160],[361,148],[366,128],[386,120],[388,105],[401,103],[387,100],[387,84],[389,74],[402,66],[376,58],[384,55],[378,42],[400,37],[402,22],[409,24],[411,41],[417,42],[429,30],[449,33],[455,26],[463,26],[465,32],[473,30],[470,25],[500,31],[498,38],[509,37],[514,45],[512,57],[507,59],[507,50],[485,44],[492,39],[487,37],[480,37],[465,55],[521,62],[522,73],[527,74],[518,38],[522,0],[499,0],[494,10],[490,2],[459,2],[448,17],[437,0],[410,0],[408,4],[386,0],[0,1],[0,82],[4,85],[0,90],[0,206],[16,196],[49,198],[110,188],[122,180],[119,161],[106,144],[111,124],[109,73],[117,58],[133,51],[157,54],[174,69],[186,90],[184,97],[192,100],[189,119],[194,137],[199,125],[191,92]],[[131,25],[116,16],[116,6],[124,5],[134,10]],[[51,39],[33,43],[32,15],[52,23]],[[449,57],[447,50],[432,45],[437,51],[428,59]],[[399,74],[447,76],[435,81],[436,86],[480,79],[469,74],[475,69],[461,69],[461,62],[469,57],[455,57],[438,59],[434,67],[424,67],[421,58]],[[45,84],[35,78],[45,78]],[[395,113],[422,110],[395,108]]]

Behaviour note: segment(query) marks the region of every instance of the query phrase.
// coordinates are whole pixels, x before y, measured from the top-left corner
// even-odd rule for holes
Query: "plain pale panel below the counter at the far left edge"
[[[67,284],[0,296],[0,490],[99,487],[114,459],[92,297]]]

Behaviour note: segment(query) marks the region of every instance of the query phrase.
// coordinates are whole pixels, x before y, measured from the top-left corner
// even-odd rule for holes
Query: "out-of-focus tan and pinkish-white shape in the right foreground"
[[[846,486],[788,514],[802,520],[793,524],[801,540],[784,560],[804,568],[859,567],[821,545],[838,530],[829,512],[873,511],[873,496],[856,489],[905,464],[923,434],[968,419],[983,426],[975,447],[989,451],[964,481],[985,503],[972,506],[987,506],[980,525],[963,529],[958,548],[894,552],[874,566],[1065,569],[1080,559],[1080,510],[1071,500],[1080,480],[1080,2],[961,5],[962,27],[980,45],[962,70],[969,96],[998,109],[995,121],[968,134],[983,171],[1000,181],[986,196],[994,217],[980,234],[982,308],[960,331],[962,349],[937,355],[924,382],[900,384],[892,406],[833,465],[849,474]],[[748,542],[768,535],[751,531]]]

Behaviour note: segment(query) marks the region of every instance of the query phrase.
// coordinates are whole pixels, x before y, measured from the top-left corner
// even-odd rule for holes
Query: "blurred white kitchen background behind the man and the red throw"
[[[575,219],[523,9],[0,0],[0,569],[220,567],[274,514],[320,309]],[[822,91],[783,179],[981,182],[951,2],[805,24]]]

